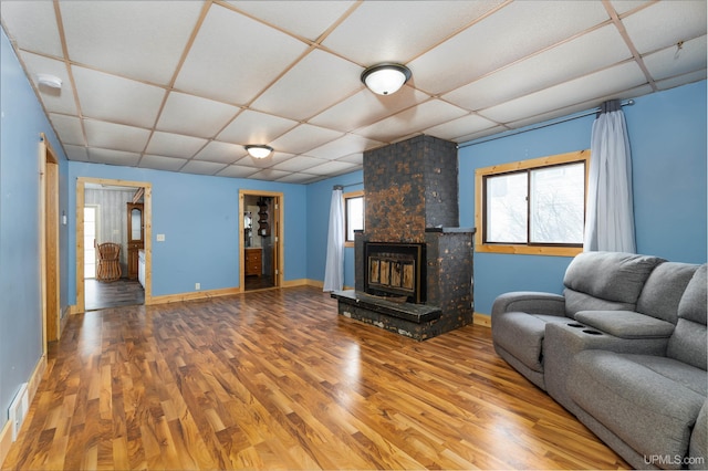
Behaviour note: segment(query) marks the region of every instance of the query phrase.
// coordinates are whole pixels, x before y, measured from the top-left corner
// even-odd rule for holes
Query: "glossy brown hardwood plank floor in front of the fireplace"
[[[628,469],[496,356],[313,287],[72,316],[3,469]]]

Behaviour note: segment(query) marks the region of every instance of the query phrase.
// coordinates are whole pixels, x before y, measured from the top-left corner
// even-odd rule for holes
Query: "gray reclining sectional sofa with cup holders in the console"
[[[707,265],[584,252],[563,294],[514,292],[494,349],[638,469],[708,469]]]

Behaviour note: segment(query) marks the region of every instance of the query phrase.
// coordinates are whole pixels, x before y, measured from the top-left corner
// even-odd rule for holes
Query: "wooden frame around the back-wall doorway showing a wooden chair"
[[[76,178],[76,305],[73,312],[86,310],[84,293],[84,205],[86,184],[112,187],[144,188],[144,223],[145,223],[145,304],[153,302],[153,184],[146,181],[113,180],[108,178]]]

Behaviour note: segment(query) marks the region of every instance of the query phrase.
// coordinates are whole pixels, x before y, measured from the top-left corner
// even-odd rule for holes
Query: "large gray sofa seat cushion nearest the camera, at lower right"
[[[584,350],[573,357],[568,391],[639,456],[685,457],[707,379],[671,358]]]

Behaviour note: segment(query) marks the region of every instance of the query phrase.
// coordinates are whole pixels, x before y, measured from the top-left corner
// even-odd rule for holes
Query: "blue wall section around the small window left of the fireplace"
[[[354,171],[308,185],[308,278],[324,281],[332,187],[344,192],[364,189],[364,172]],[[354,287],[354,248],[344,249],[344,285]]]

